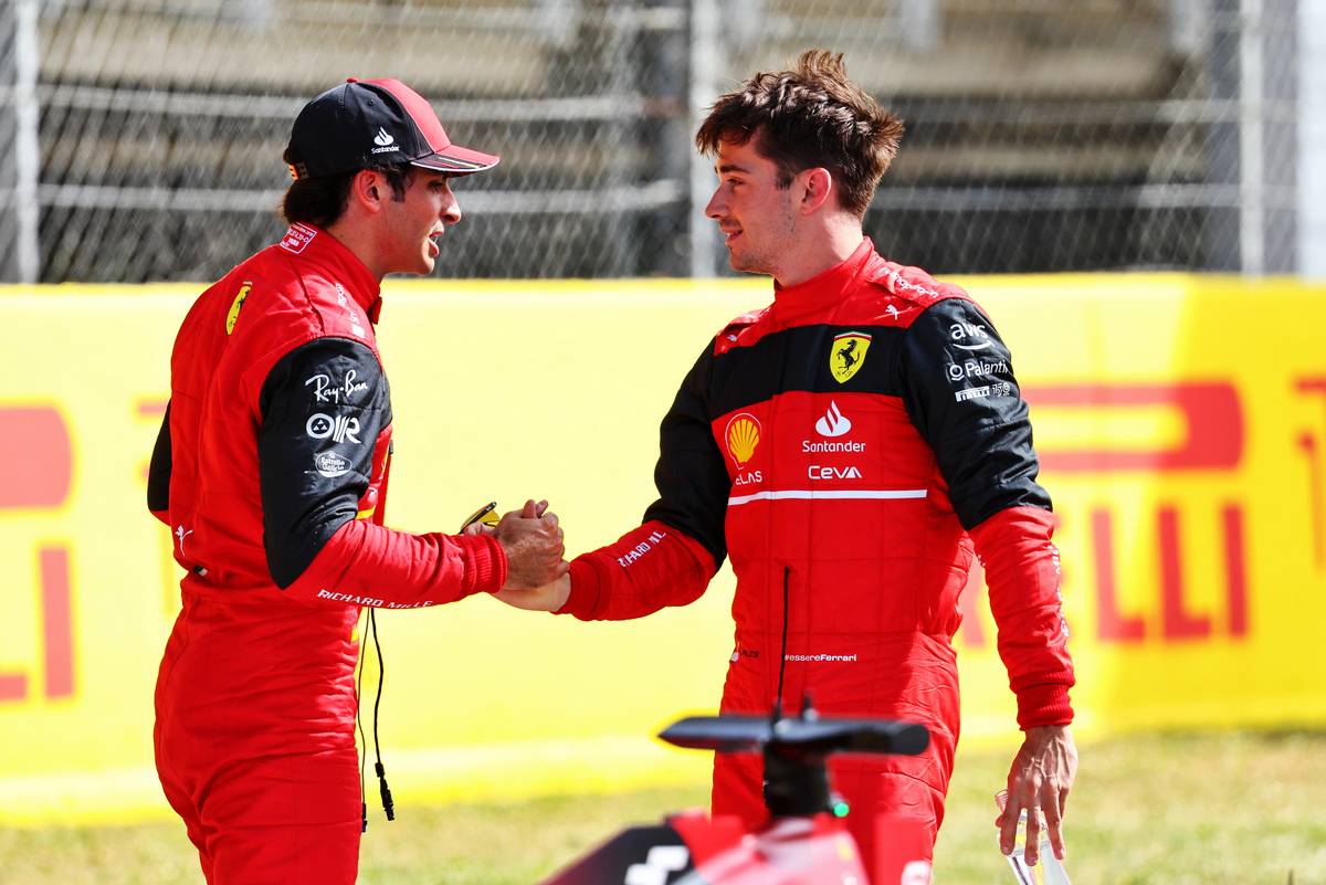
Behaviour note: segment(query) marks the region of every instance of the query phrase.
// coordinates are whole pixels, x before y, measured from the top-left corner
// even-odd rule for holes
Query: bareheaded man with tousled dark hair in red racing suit
[[[663,419],[659,499],[621,541],[549,588],[501,592],[583,620],[695,600],[724,558],[737,588],[725,713],[918,721],[920,756],[838,758],[834,782],[874,874],[876,815],[911,817],[927,857],[959,733],[952,636],[973,554],[1025,739],[1001,843],[1040,808],[1062,856],[1077,770],[1074,682],[1050,498],[1012,358],[961,289],[882,258],[862,217],[903,134],[847,79],[801,56],[723,95],[696,135],[716,159],[705,208],[732,268],[773,277],[773,303],[705,346]],[[764,815],[761,760],[720,754],[713,811]]]

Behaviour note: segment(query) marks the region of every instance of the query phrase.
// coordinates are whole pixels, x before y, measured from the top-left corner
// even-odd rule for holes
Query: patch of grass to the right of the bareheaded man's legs
[[[1290,873],[1298,885],[1326,882],[1326,734],[1166,734],[1079,750],[1065,824],[1077,885],[1286,885]],[[987,786],[1006,764],[960,756],[940,882],[1013,881],[991,862]]]

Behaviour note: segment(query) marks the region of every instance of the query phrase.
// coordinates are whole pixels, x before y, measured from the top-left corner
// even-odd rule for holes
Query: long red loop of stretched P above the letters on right
[[[1024,391],[1036,407],[1109,408],[1162,405],[1175,408],[1185,436],[1175,449],[1041,448],[1041,465],[1062,473],[1107,470],[1231,470],[1244,452],[1244,417],[1238,392],[1229,382],[1179,384],[1062,384]]]

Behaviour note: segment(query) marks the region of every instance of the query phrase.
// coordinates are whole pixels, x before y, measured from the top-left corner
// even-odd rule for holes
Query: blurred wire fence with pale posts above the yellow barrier
[[[442,276],[721,272],[691,136],[819,45],[907,122],[866,227],[936,272],[1296,268],[1296,0],[5,0],[0,268],[208,280],[281,232],[313,94],[461,143]]]

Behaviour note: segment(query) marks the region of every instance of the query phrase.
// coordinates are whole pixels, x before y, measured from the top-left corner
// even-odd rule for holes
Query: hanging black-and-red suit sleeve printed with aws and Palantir
[[[1054,518],[1012,355],[976,305],[949,298],[912,323],[899,359],[907,412],[985,566],[1018,725],[1066,725],[1074,674]]]

